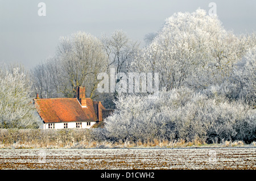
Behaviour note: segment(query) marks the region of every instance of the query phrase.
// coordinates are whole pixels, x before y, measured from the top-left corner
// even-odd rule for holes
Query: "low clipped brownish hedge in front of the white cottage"
[[[92,140],[89,129],[0,129],[0,144],[36,147],[72,145]]]

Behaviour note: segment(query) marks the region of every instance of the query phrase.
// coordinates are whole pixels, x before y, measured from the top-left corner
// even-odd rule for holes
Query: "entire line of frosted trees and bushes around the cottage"
[[[32,108],[24,106],[36,92],[40,98],[73,97],[76,86],[85,86],[87,97],[115,108],[105,128],[93,132],[99,140],[255,141],[255,33],[235,35],[198,9],[167,18],[145,41],[141,48],[122,31],[101,38],[77,32],[61,37],[52,58],[30,71],[2,69],[1,128],[36,128],[29,121]],[[158,96],[118,92],[122,77],[115,79],[115,92],[98,92],[97,75],[110,68],[159,73]]]

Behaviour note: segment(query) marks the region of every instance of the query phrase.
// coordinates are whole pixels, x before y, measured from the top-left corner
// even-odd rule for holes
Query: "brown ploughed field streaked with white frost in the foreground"
[[[0,169],[256,169],[256,148],[0,149]]]

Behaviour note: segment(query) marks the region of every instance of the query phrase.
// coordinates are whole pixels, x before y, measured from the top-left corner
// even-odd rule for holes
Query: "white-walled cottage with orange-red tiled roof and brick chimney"
[[[113,110],[85,98],[85,87],[77,87],[76,98],[34,99],[43,129],[92,128]]]

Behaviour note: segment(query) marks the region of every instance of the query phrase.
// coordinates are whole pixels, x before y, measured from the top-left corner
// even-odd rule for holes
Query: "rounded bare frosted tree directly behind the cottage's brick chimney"
[[[86,86],[86,95],[93,98],[100,82],[97,75],[104,72],[108,66],[108,59],[101,41],[85,32],[61,37],[56,58],[67,81],[64,82],[63,90],[67,89],[64,95],[74,96],[75,88],[83,85]]]

